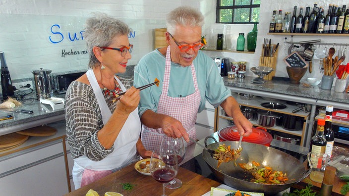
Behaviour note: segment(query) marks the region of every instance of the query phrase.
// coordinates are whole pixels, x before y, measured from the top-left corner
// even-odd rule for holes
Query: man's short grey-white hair
[[[195,8],[180,6],[168,13],[166,17],[166,26],[169,33],[175,34],[177,25],[202,27],[204,25],[204,16]]]

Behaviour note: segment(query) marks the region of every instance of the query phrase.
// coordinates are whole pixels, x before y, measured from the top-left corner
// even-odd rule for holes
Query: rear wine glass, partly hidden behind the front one
[[[182,162],[185,156],[185,145],[183,142],[183,138],[172,138],[170,141],[172,143],[172,146],[177,154],[177,160],[178,164]],[[165,187],[168,189],[177,189],[182,186],[182,181],[179,179],[175,178],[171,182],[166,183]]]

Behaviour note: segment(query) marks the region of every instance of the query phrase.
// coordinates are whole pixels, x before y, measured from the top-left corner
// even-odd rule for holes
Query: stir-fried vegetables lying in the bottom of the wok
[[[282,171],[274,171],[271,167],[264,166],[264,168],[258,169],[260,164],[252,161],[251,163],[239,163],[240,167],[245,170],[251,170],[252,176],[251,182],[267,185],[283,185],[289,180],[286,173]]]

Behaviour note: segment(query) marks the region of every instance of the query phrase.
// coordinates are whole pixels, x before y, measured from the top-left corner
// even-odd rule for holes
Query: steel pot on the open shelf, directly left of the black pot
[[[266,111],[266,110],[258,110],[258,124],[263,127],[274,127],[275,125],[282,125],[283,116],[281,114]]]

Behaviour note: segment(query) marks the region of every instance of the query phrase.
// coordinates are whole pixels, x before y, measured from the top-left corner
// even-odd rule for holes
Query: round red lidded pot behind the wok
[[[237,132],[236,126],[228,126],[218,131],[218,137],[223,141],[239,141],[240,134]],[[270,133],[252,127],[252,133],[248,137],[243,137],[242,142],[266,145],[270,144],[273,137]]]

